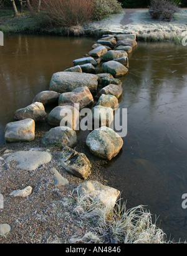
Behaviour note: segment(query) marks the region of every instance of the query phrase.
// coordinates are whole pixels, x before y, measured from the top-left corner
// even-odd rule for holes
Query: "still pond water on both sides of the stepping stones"
[[[0,48],[0,130],[14,111],[48,90],[53,73],[88,53],[93,38],[11,36]],[[120,154],[104,166],[108,184],[122,191],[127,208],[145,205],[168,238],[187,240],[186,47],[138,43],[130,54],[120,108],[128,109],[128,134]],[[81,136],[81,135],[80,135]]]

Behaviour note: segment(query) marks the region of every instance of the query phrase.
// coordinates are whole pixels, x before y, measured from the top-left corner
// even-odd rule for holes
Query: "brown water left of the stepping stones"
[[[73,65],[90,51],[94,39],[54,36],[9,36],[0,48],[0,143],[4,125],[14,111],[31,104],[34,96],[49,89],[53,73]]]

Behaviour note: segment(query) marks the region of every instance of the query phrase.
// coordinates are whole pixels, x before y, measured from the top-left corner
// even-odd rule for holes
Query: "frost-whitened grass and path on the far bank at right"
[[[148,9],[134,10],[129,19],[125,19],[125,9],[121,14],[90,23],[85,32],[90,34],[105,33],[137,33],[138,39],[152,41],[180,41],[181,33],[186,31],[187,10],[180,9],[175,13],[173,20],[162,21],[151,19]],[[124,22],[125,21],[125,22]],[[129,21],[129,24],[127,24]]]

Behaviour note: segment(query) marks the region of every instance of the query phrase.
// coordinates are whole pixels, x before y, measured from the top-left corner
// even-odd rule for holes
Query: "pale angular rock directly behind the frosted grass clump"
[[[115,206],[116,200],[120,195],[119,190],[102,185],[102,183],[93,180],[81,183],[77,187],[77,192],[79,195],[89,195],[89,197],[96,202],[100,201],[108,209]]]

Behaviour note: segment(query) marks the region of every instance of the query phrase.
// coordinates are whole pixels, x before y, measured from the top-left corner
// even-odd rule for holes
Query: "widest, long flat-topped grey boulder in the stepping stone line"
[[[79,72],[57,72],[52,75],[49,90],[66,93],[75,88],[87,86],[91,92],[97,91],[98,76]]]

